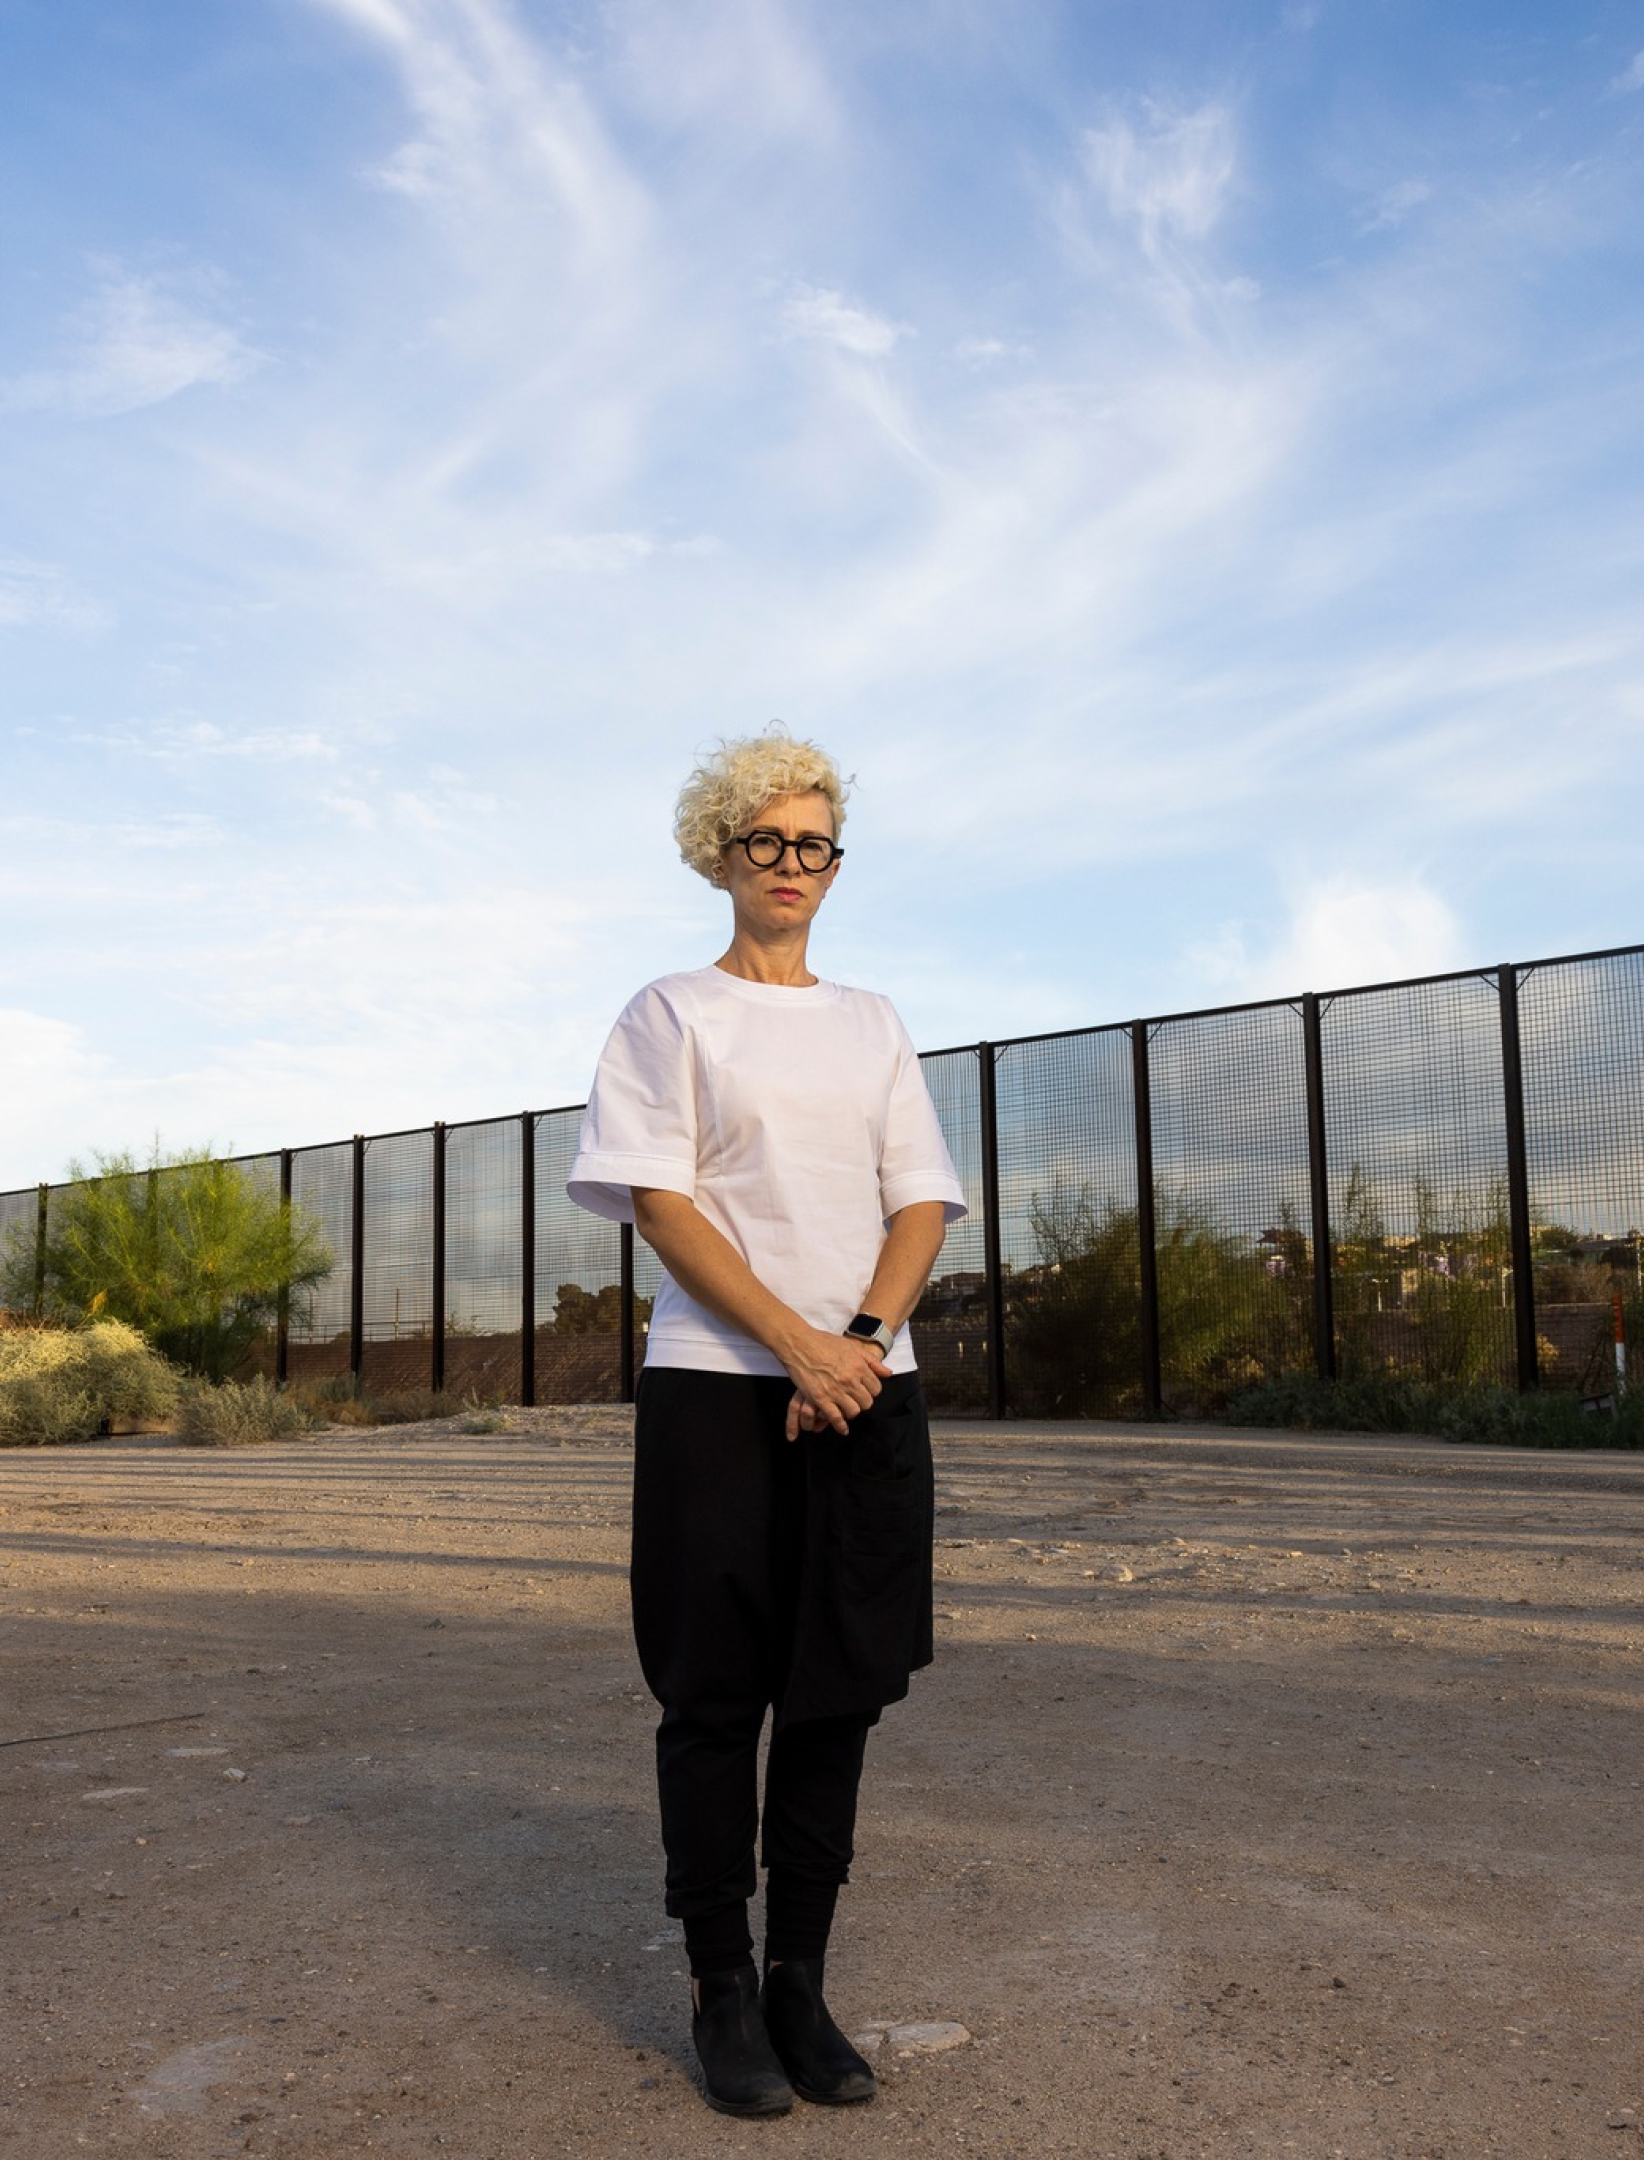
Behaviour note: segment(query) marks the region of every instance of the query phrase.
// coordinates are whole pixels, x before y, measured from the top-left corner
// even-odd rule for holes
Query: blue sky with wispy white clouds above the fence
[[[0,0],[0,1186],[1644,937],[1644,15]]]

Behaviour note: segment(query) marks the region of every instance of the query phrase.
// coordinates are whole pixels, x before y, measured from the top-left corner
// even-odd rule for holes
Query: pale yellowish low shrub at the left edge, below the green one
[[[114,1417],[160,1419],[177,1372],[121,1320],[0,1331],[0,1445],[89,1441]]]

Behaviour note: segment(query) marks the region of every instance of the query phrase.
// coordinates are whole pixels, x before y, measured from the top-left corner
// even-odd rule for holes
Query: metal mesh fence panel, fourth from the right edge
[[[1026,1417],[1141,1410],[1136,1104],[1128,1028],[996,1058],[1005,1400]]]

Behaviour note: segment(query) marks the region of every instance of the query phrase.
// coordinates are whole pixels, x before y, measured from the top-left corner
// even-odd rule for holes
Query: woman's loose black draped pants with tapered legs
[[[782,1436],[789,1380],[650,1367],[633,1633],[663,1706],[668,1912],[847,1879],[871,1726],[931,1659],[931,1443],[916,1374],[836,1432]],[[758,1739],[776,1711],[758,1810]]]

